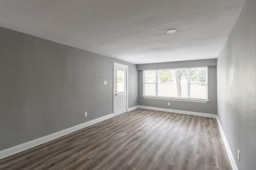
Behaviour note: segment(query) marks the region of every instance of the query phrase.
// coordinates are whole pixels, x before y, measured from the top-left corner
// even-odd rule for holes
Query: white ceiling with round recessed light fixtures
[[[244,2],[0,0],[0,26],[134,64],[213,59]]]

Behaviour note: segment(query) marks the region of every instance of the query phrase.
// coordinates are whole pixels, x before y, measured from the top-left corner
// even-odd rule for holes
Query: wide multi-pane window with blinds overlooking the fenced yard
[[[208,99],[207,67],[143,70],[143,96]]]

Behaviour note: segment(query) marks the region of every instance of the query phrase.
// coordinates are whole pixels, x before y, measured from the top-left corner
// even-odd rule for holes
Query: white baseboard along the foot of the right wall
[[[223,140],[223,142],[224,142],[225,148],[226,148],[227,153],[228,153],[228,158],[229,158],[229,160],[230,160],[232,169],[233,169],[233,170],[238,170],[238,168],[237,168],[237,166],[236,166],[236,162],[235,162],[234,156],[233,156],[233,154],[232,154],[232,152],[231,152],[231,149],[230,149],[230,147],[229,147],[229,145],[228,145],[228,141],[227,141],[227,139],[226,139],[226,137],[225,137],[224,131],[223,131],[222,126],[221,126],[221,124],[220,124],[219,117],[217,116],[216,119],[217,119],[217,122],[218,122],[218,125],[219,125],[219,129],[220,129],[220,134],[221,134],[221,136],[222,136],[222,140]]]

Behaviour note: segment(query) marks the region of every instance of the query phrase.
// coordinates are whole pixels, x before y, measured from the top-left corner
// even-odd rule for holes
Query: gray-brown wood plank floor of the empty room
[[[1,170],[231,170],[216,119],[136,109],[0,160]]]

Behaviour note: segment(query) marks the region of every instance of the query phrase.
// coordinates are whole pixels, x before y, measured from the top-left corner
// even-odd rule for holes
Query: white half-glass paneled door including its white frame
[[[114,63],[114,114],[126,112],[128,66]]]

